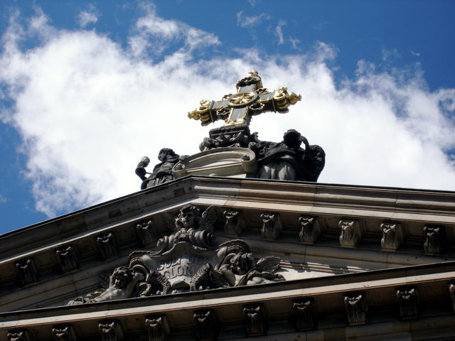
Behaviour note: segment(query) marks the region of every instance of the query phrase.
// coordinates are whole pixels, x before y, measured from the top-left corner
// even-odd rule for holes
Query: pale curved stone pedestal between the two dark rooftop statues
[[[180,161],[172,168],[172,173],[174,178],[186,175],[249,178],[257,174],[257,161],[255,153],[248,148],[215,148]]]

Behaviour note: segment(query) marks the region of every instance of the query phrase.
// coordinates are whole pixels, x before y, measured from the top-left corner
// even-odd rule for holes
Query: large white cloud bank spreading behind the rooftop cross
[[[130,37],[145,40],[141,58],[137,48],[125,50],[94,31],[36,22],[13,21],[4,36],[0,82],[14,107],[1,114],[21,133],[36,207],[49,216],[139,190],[134,168],[141,156],[153,166],[162,147],[198,152],[213,126],[186,113],[200,99],[232,92],[249,70],[259,70],[269,89],[285,85],[302,94],[289,114],[259,115],[251,129],[280,141],[294,128],[323,146],[321,182],[455,190],[454,165],[444,154],[455,146],[455,90],[430,92],[420,73],[378,73],[359,63],[355,79],[336,85],[326,64],[336,52],[325,43],[306,55],[264,58],[250,49],[238,58],[196,60],[193,51],[218,38],[154,9]],[[18,42],[31,34],[45,39],[23,50]],[[144,57],[154,46],[167,47],[156,63]]]

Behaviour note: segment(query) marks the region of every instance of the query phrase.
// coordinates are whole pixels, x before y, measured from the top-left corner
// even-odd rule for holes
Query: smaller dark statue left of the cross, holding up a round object
[[[158,159],[161,163],[154,167],[152,173],[147,173],[145,170],[146,166],[149,166],[150,159],[146,156],[141,158],[136,168],[136,174],[142,180],[141,190],[173,180],[172,168],[184,158],[186,156],[178,156],[171,148],[162,148],[158,154]],[[150,175],[146,177],[146,174]]]

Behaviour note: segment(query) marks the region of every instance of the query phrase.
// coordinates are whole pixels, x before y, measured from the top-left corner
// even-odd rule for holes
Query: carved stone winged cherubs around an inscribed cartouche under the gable
[[[171,233],[154,251],[134,251],[129,266],[114,269],[107,288],[70,301],[70,305],[284,281],[280,259],[256,259],[240,240],[215,244],[216,208],[185,205],[177,215],[164,214]]]

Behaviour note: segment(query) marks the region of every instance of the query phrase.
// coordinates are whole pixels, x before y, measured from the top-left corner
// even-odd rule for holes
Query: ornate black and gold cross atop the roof
[[[224,119],[225,126],[242,124],[248,126],[253,115],[263,112],[289,112],[291,104],[301,100],[301,95],[287,92],[286,87],[269,92],[262,87],[257,71],[248,72],[247,77],[237,82],[237,92],[226,94],[220,101],[200,101],[200,107],[188,112],[191,119],[200,120],[206,126],[218,119]]]

